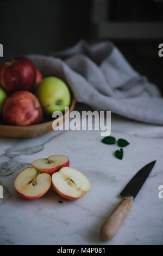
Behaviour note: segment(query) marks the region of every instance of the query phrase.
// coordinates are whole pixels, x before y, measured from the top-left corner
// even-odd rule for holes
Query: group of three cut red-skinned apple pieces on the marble
[[[60,196],[74,200],[86,194],[90,181],[79,170],[70,167],[67,156],[53,155],[47,159],[37,159],[32,167],[22,170],[15,179],[18,194],[26,199],[42,197],[53,185]]]

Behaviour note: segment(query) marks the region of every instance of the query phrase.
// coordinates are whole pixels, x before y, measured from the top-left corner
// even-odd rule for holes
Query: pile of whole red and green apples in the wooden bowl
[[[17,57],[0,68],[0,114],[11,125],[33,125],[43,121],[43,113],[64,111],[71,95],[64,81],[46,77],[25,57]]]

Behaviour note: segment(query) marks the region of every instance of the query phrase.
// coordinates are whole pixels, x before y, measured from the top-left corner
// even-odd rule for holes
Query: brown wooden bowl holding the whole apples
[[[74,106],[76,104],[76,100],[72,96],[71,99],[71,106],[69,109],[69,113],[73,111]],[[64,118],[62,119],[57,118],[58,121],[60,120],[61,122],[65,121],[68,118],[68,112],[64,114]],[[62,120],[61,120],[62,119]],[[32,138],[36,137],[39,135],[43,135],[47,132],[50,132],[53,130],[52,123],[53,120],[50,121],[45,121],[44,123],[41,124],[36,124],[36,125],[29,125],[29,126],[14,126],[14,125],[0,125],[0,136],[3,137],[21,137],[21,138]]]

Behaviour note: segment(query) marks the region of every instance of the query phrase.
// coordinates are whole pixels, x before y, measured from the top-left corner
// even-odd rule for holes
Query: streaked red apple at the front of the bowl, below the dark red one
[[[12,125],[39,124],[43,112],[36,96],[27,91],[19,91],[10,95],[3,107],[3,118]]]

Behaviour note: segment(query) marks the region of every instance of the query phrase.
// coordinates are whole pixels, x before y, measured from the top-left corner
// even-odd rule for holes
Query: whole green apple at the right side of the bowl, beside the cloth
[[[36,96],[46,114],[52,114],[54,111],[62,112],[71,103],[70,91],[65,82],[58,77],[43,79],[36,88]]]

